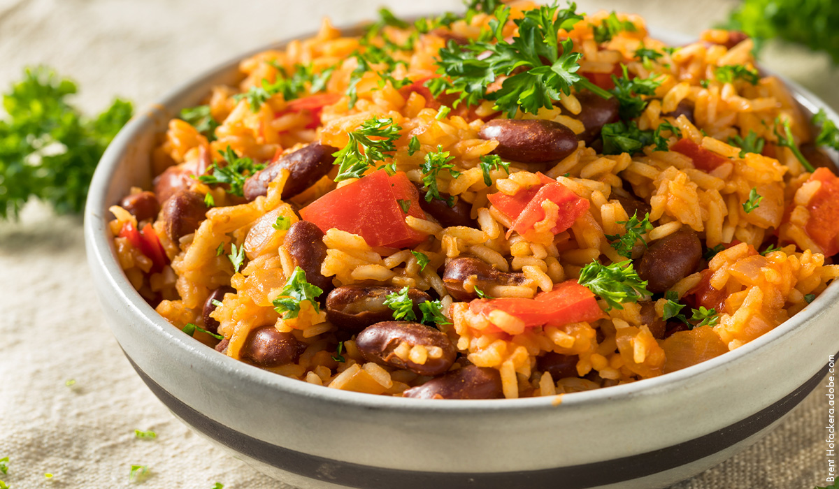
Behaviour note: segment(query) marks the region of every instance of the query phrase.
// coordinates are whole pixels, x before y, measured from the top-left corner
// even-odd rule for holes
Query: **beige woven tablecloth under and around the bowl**
[[[316,29],[329,14],[349,24],[388,4],[400,14],[457,9],[457,0],[0,0],[0,87],[24,65],[44,63],[80,82],[76,101],[101,110],[114,95],[144,107],[170,87],[238,52]],[[698,32],[731,0],[696,3],[585,1],[588,11],[641,13],[652,25]],[[795,49],[767,65],[839,107],[836,70]],[[73,387],[65,381],[75,379]],[[827,461],[826,401],[819,388],[779,429],[679,489],[810,489]],[[150,429],[156,440],[137,440]],[[654,426],[651,426],[654,429]],[[132,486],[149,466],[149,488],[281,487],[186,429],[134,374],[102,320],[87,270],[81,220],[30,205],[0,223],[0,458],[14,489]],[[51,481],[44,473],[54,475]]]

